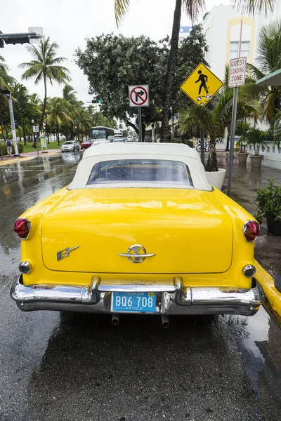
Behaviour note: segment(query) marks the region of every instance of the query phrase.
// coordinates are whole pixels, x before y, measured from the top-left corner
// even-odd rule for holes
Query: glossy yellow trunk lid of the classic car
[[[213,192],[194,189],[72,190],[46,213],[41,238],[44,265],[56,271],[219,273],[233,253],[230,216]],[[153,256],[136,264],[119,255],[133,245]]]

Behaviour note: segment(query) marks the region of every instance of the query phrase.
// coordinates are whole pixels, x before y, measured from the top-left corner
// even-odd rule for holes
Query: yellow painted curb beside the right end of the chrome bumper
[[[255,260],[256,279],[261,284],[271,307],[281,316],[281,293],[275,288],[273,277]]]

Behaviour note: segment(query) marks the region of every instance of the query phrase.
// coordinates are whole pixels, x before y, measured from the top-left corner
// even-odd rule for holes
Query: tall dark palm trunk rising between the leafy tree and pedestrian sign
[[[178,53],[178,37],[181,25],[182,0],[176,0],[174,11],[173,31],[171,33],[171,48],[169,53],[168,71],[166,74],[166,88],[164,96],[164,107],[161,127],[161,142],[169,142],[169,116],[171,106],[171,95],[173,92],[174,75],[176,67],[176,55]]]

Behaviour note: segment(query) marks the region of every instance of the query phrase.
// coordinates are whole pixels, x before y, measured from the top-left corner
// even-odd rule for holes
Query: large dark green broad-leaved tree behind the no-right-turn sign
[[[88,77],[90,92],[101,99],[105,116],[126,121],[138,133],[134,123],[137,110],[129,107],[128,85],[149,83],[150,107],[143,107],[143,121],[159,119],[166,76],[162,46],[147,36],[102,34],[87,39],[85,51],[78,49],[76,55],[77,64]]]

